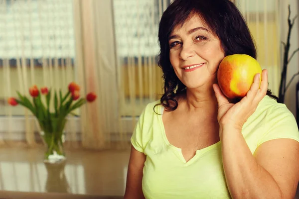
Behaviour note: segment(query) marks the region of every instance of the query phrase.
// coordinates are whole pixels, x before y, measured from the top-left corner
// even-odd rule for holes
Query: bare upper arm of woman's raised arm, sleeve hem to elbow
[[[254,156],[277,182],[283,198],[294,199],[299,182],[299,143],[293,139],[267,141]]]

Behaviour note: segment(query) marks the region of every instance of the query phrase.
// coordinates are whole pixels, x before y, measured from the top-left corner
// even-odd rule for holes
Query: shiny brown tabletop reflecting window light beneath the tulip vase
[[[129,150],[66,149],[67,160],[55,165],[43,163],[43,153],[41,147],[1,147],[0,191],[112,198],[124,195]]]

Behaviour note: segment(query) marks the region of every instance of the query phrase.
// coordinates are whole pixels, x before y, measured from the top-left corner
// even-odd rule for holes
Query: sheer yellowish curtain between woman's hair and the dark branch
[[[255,39],[258,61],[269,71],[269,89],[278,96],[280,83],[280,0],[235,0]]]

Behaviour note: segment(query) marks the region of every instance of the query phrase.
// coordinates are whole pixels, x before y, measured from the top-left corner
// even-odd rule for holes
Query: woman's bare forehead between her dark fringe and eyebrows
[[[177,24],[171,34],[176,34],[178,32],[187,32],[190,29],[196,28],[196,27],[204,27],[209,32],[211,32],[211,29],[208,25],[204,22],[204,20],[197,14],[190,15],[182,24]]]

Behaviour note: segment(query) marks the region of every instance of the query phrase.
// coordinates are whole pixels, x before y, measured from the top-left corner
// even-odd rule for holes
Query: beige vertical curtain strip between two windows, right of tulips
[[[74,0],[78,80],[86,91],[98,94],[97,103],[82,108],[82,143],[87,148],[107,148],[120,135],[111,8],[110,0]]]

